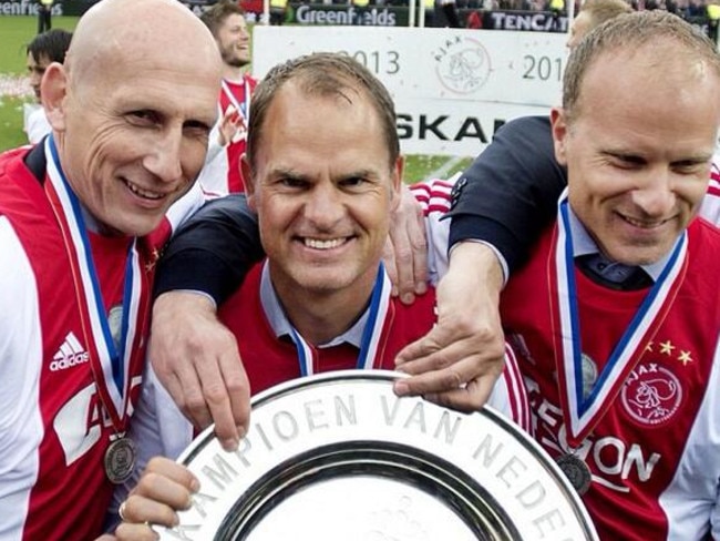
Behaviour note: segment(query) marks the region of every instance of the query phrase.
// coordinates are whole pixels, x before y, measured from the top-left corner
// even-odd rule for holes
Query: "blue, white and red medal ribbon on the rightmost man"
[[[623,388],[628,374],[635,368],[667,316],[687,269],[687,244],[686,231],[677,239],[658,280],[615,346],[593,390],[584,398],[583,347],[567,190],[560,197],[557,229],[548,261],[548,276],[559,395],[570,446],[577,447],[603,418],[608,404]]]

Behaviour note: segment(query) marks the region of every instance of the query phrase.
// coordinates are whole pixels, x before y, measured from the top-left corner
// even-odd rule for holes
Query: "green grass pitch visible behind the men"
[[[73,30],[75,17],[54,17],[53,27]],[[0,151],[27,142],[22,131],[22,104],[34,101],[25,73],[25,45],[35,35],[34,17],[0,16]],[[471,159],[409,155],[405,180],[416,182],[433,174],[448,177],[465,169]]]

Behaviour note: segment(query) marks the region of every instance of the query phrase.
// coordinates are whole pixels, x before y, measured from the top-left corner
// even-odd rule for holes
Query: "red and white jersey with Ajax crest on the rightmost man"
[[[572,452],[589,467],[593,482],[583,501],[601,539],[720,539],[720,232],[703,220],[691,223],[677,296],[650,329],[655,335],[638,341],[641,356],[623,377],[603,369],[648,289],[613,290],[574,272],[583,372],[597,375],[588,399],[600,415],[574,446],[554,347],[553,234],[545,232],[501,302],[506,337],[525,376],[535,439],[551,456]]]

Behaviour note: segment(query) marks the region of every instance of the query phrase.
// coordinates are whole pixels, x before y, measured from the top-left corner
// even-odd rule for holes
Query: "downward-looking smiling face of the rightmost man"
[[[662,47],[660,70],[648,49]],[[692,218],[720,125],[720,76],[673,47],[603,53],[572,116],[552,114],[573,211],[608,257],[629,265],[659,261]]]

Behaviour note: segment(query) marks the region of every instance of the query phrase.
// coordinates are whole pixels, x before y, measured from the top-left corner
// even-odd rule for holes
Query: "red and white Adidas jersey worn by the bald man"
[[[116,430],[91,368],[71,258],[43,184],[23,162],[28,152],[0,155],[0,539],[94,539],[112,497],[103,459]],[[171,229],[165,223],[152,237],[162,241]],[[132,239],[88,236],[107,310],[122,305]],[[151,286],[160,245],[140,244],[141,279]],[[128,412],[142,380],[148,308],[150,294],[138,302]]]

